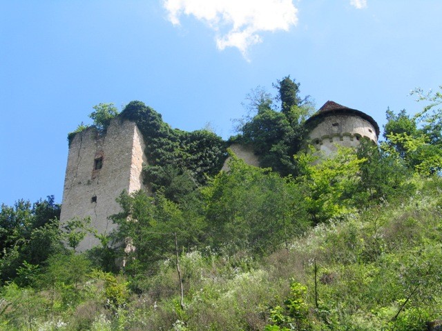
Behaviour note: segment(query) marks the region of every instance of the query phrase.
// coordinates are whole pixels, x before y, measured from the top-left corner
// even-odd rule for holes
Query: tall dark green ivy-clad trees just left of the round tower
[[[255,114],[238,128],[241,136],[237,139],[253,146],[262,167],[283,176],[297,172],[292,157],[302,147],[307,134],[304,122],[313,110],[308,97],[300,99],[299,85],[289,77],[273,85],[279,92],[274,99],[281,101],[281,112],[273,109],[271,94],[262,88],[253,90],[247,99]]]

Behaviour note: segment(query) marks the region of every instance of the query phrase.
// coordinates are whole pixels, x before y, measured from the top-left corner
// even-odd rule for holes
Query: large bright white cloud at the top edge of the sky
[[[260,32],[287,31],[298,23],[292,0],[163,0],[169,21],[193,15],[216,34],[219,50],[236,47],[247,58],[249,46],[262,42]]]

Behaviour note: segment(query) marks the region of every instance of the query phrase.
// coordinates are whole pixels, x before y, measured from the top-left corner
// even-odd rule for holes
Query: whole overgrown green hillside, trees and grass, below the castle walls
[[[161,172],[155,194],[122,192],[110,234],[60,225],[53,197],[1,205],[0,329],[426,330],[442,317],[441,96],[387,111],[379,146],[320,159],[288,154],[307,106],[262,100],[285,143],[256,140],[259,111],[235,139],[253,133],[271,168]],[[164,146],[189,137],[156,118]],[[80,254],[86,234],[100,245]]]

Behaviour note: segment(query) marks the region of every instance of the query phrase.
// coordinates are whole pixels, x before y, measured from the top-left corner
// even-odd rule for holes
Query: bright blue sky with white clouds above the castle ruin
[[[228,138],[245,95],[291,75],[316,108],[421,109],[442,84],[440,0],[0,0],[0,202],[61,202],[66,136],[144,101]]]

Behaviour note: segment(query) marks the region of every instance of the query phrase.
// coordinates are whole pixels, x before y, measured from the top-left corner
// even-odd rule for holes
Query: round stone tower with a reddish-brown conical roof
[[[308,143],[325,155],[335,152],[336,145],[356,147],[361,139],[378,142],[379,126],[371,116],[334,101],[327,101],[305,124]]]

